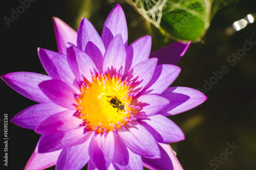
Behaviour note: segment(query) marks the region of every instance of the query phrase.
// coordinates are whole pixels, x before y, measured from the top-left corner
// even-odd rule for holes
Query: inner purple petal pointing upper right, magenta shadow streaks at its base
[[[134,91],[139,92],[143,90],[145,86],[151,81],[156,65],[156,58],[148,59],[138,63],[127,73],[126,78],[129,81],[134,82],[131,85],[131,88],[133,88]]]

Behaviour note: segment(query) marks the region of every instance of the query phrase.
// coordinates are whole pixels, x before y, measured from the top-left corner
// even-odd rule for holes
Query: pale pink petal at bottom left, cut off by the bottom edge
[[[61,150],[54,151],[54,152],[48,152],[48,153],[38,153],[38,143],[39,143],[39,141],[37,142],[35,151],[29,158],[29,161],[26,164],[24,170],[46,169],[46,168],[56,164]]]

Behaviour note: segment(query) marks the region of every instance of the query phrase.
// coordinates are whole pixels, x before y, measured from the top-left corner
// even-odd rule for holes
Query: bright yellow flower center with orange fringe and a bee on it
[[[134,109],[130,105],[134,93],[132,82],[123,80],[117,73],[92,75],[92,82],[84,80],[80,87],[81,94],[76,96],[76,116],[83,119],[82,126],[97,134],[116,132],[125,124],[130,124],[134,117]]]

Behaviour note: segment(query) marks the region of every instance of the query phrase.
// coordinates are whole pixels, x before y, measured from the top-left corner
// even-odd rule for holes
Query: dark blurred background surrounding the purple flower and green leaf
[[[153,37],[152,52],[174,40],[164,37],[124,1],[34,1],[24,13],[7,24],[1,21],[1,75],[14,71],[30,71],[45,74],[37,56],[37,47],[57,51],[52,24],[56,16],[77,30],[81,17],[87,17],[101,35],[105,18],[119,3],[125,13],[129,31],[129,44],[139,37]],[[10,17],[11,9],[20,6],[19,1],[4,1],[2,18]],[[208,100],[195,109],[170,116],[185,133],[185,140],[171,143],[184,169],[256,169],[256,44],[244,57],[234,62],[227,59],[238,53],[246,43],[256,42],[256,25],[251,23],[231,35],[225,33],[234,21],[256,12],[256,1],[242,0],[236,7],[220,10],[200,42],[191,43],[178,66],[180,76],[172,86],[204,89],[205,81],[213,79],[212,71],[220,71],[223,65],[227,73],[205,91]],[[255,18],[254,18],[255,19]],[[162,39],[163,41],[159,41]],[[231,65],[232,64],[232,65]],[[8,87],[2,80],[1,119],[11,118],[23,109],[36,104]],[[1,138],[3,139],[3,122]],[[8,123],[8,167],[24,169],[34,151],[40,135],[33,130]],[[232,154],[226,148],[237,145]],[[4,156],[4,145],[1,145]],[[231,150],[228,150],[231,151]],[[227,157],[225,156],[227,155]],[[220,162],[216,160],[219,158]],[[2,157],[3,159],[3,157]],[[3,161],[1,161],[3,165]],[[49,169],[54,169],[50,167]]]

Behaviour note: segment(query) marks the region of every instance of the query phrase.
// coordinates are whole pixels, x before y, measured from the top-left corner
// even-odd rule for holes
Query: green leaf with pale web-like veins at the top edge
[[[211,18],[238,0],[130,0],[138,12],[175,40],[200,41]]]

